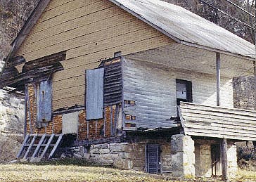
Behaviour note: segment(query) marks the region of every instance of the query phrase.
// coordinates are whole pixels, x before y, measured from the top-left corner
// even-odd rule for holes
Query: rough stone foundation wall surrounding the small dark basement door
[[[113,165],[119,169],[146,171],[146,143],[148,141],[91,145],[89,159],[91,162]],[[170,143],[165,141],[150,141],[150,143],[161,145],[161,171],[169,173],[171,170]]]

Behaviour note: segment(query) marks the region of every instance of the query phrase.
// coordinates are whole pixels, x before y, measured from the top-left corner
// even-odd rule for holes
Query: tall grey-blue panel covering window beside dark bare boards
[[[87,120],[103,118],[104,69],[87,70],[86,110]]]

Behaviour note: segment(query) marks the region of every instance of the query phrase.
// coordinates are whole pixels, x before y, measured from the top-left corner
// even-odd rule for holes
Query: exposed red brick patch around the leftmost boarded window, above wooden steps
[[[27,100],[27,107],[28,102],[30,102],[30,108],[27,108],[27,134],[61,134],[62,133],[62,116],[56,115],[53,117],[53,122],[49,122],[48,126],[42,127],[40,129],[37,128],[37,99],[35,94],[35,89],[33,84],[29,84],[27,86],[28,96],[29,99]],[[30,112],[30,114],[29,114]],[[31,119],[30,119],[31,116]],[[31,124],[30,124],[31,121]]]

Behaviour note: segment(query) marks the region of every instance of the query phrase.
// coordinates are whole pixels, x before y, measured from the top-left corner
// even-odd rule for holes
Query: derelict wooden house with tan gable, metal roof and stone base
[[[12,45],[0,86],[25,91],[18,157],[50,158],[76,134],[95,162],[232,176],[235,142],[256,141],[256,112],[233,108],[232,86],[253,74],[255,46],[179,6],[39,1]]]

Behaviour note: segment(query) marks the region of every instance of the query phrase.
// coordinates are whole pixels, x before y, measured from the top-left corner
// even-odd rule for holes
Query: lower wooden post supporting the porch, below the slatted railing
[[[222,180],[229,181],[227,171],[228,171],[228,160],[227,160],[227,144],[226,138],[223,138],[221,141],[221,159],[222,159]]]

